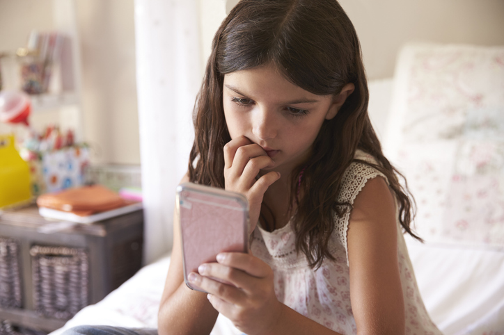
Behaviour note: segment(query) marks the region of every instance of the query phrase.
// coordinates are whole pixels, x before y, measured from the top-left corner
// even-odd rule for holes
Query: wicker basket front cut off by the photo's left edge
[[[19,243],[0,237],[0,307],[21,308]]]

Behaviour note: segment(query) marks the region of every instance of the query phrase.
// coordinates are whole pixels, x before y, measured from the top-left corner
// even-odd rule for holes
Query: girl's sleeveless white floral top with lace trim
[[[358,151],[356,158],[370,163],[375,159]],[[386,177],[369,165],[352,163],[342,179],[338,202],[354,203],[366,181]],[[388,182],[388,181],[387,181]],[[336,228],[329,250],[336,261],[325,260],[318,270],[308,266],[306,256],[297,254],[294,231],[290,223],[268,232],[258,226],[253,231],[252,253],[268,263],[274,271],[276,297],[280,302],[308,318],[340,334],[356,334],[356,325],[350,304],[350,281],[347,252],[347,229],[350,211],[342,218],[335,215]],[[397,215],[396,215],[397,217]],[[418,293],[413,267],[397,221],[397,259],[404,295],[406,334],[441,334],[430,320]]]

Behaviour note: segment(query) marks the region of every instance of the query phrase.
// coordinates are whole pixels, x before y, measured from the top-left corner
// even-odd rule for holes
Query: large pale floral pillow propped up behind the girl
[[[504,249],[504,47],[407,45],[392,99],[384,147],[418,234]]]

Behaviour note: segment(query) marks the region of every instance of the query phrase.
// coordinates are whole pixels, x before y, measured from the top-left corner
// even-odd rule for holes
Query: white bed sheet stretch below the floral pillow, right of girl
[[[504,334],[504,252],[407,238],[420,294],[444,334]]]

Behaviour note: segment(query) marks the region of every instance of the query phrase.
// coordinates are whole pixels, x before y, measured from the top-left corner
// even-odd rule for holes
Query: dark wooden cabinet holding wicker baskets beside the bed
[[[59,254],[50,254],[49,252],[49,255],[46,255],[46,259],[49,259],[49,261],[54,261],[54,258],[58,256],[68,257],[69,254],[72,254],[73,257],[79,257],[79,252],[85,253],[83,257],[84,266],[81,266],[81,269],[84,270],[77,272],[77,277],[87,276],[84,278],[86,280],[82,281],[87,283],[87,287],[83,288],[86,304],[99,302],[105,295],[120,286],[129,277],[132,277],[141,268],[143,211],[127,213],[95,224],[77,224],[66,228],[64,228],[64,225],[65,222],[47,221],[42,218],[38,214],[38,208],[35,205],[15,211],[3,211],[0,214],[0,238],[4,243],[8,240],[11,246],[13,246],[13,243],[16,246],[10,248],[11,251],[14,250],[14,255],[11,256],[15,258],[10,259],[9,264],[3,264],[3,268],[11,268],[9,279],[3,278],[2,272],[0,272],[0,286],[3,286],[4,295],[15,293],[12,291],[15,285],[13,283],[2,283],[2,280],[12,280],[12,278],[17,277],[13,273],[16,266],[11,265],[11,263],[17,264],[19,269],[19,284],[17,286],[19,286],[21,293],[20,307],[0,306],[0,322],[8,320],[12,325],[50,332],[62,327],[65,321],[70,318],[68,316],[61,319],[54,315],[47,315],[45,309],[40,309],[41,295],[37,290],[42,287],[42,289],[46,290],[44,294],[48,299],[58,300],[61,308],[61,306],[65,306],[65,303],[68,304],[68,299],[74,299],[72,297],[75,297],[75,294],[72,295],[71,288],[61,287],[70,280],[64,277],[76,277],[76,273],[65,274],[64,266],[69,263],[67,259],[60,263],[56,262],[54,268],[51,268],[51,262],[49,262],[49,265],[46,265],[46,268],[49,267],[48,270],[43,272],[42,275],[39,272],[33,272],[34,269],[38,271],[37,269],[40,268],[36,263],[39,261],[36,257],[38,250],[64,251],[59,252]],[[42,232],[51,227],[59,227],[60,229],[63,227],[63,229],[49,234]],[[72,253],[72,250],[79,252]],[[6,259],[8,248],[5,246],[2,248],[0,245],[1,252],[3,252],[3,256],[0,257],[0,261],[8,261]],[[83,260],[79,261],[83,262]],[[0,269],[2,268],[1,265]],[[63,270],[61,270],[62,267]],[[60,281],[55,283],[50,276],[53,276],[57,271],[60,271],[60,277],[63,279],[60,278]],[[3,276],[5,275],[4,273]],[[42,284],[42,286],[40,286],[40,276],[47,276],[43,278],[45,284]],[[10,291],[7,291],[6,288],[9,288]],[[56,297],[56,294],[51,290],[60,292],[63,297]],[[65,296],[65,294],[68,294],[68,296]],[[82,296],[79,292],[79,297]],[[38,300],[36,300],[36,297],[38,297]]]

